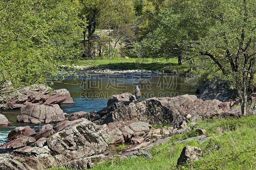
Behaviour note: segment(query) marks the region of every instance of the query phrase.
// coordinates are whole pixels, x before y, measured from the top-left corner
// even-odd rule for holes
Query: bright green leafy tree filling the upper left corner
[[[60,76],[81,55],[77,8],[68,0],[0,3],[0,94]]]

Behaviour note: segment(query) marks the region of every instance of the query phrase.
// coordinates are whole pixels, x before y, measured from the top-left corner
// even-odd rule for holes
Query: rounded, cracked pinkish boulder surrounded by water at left
[[[65,120],[65,115],[58,104],[27,104],[20,109],[18,122],[51,123]]]

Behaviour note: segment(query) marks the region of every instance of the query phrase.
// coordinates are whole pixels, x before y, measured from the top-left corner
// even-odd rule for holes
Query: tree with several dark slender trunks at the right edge
[[[252,0],[200,1],[199,17],[206,25],[194,51],[209,57],[232,82],[244,115],[254,112],[256,2]]]

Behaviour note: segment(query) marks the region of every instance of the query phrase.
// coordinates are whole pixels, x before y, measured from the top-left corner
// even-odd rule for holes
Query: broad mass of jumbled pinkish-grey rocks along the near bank
[[[32,118],[28,119],[28,113],[31,113],[30,116],[36,113],[32,116],[34,123],[58,123],[54,126],[46,124],[36,131],[29,126],[12,130],[8,134],[11,141],[2,145],[0,149],[14,151],[0,155],[0,169],[46,169],[52,166],[86,169],[98,162],[118,157],[144,155],[152,158],[148,149],[167,142],[174,134],[182,134],[195,128],[194,121],[216,115],[235,114],[230,110],[229,102],[215,99],[203,101],[195,95],[154,97],[145,101],[130,101],[131,97],[132,94],[129,93],[113,95],[108,101],[108,106],[98,112],[75,112],[66,115],[66,118],[65,115],[63,118],[63,115],[37,107],[37,104],[22,106],[21,110],[24,112],[17,118],[19,120],[31,121]],[[35,107],[39,109],[38,112],[33,112]],[[51,104],[49,107],[52,107]],[[45,111],[44,116],[41,114],[42,110]],[[50,116],[47,116],[48,114]],[[56,120],[52,117],[61,119]],[[152,128],[152,125],[166,123],[171,126]],[[207,140],[204,129],[198,129],[198,134],[201,134],[198,140]],[[133,145],[115,156],[110,155],[109,144],[124,142]],[[195,151],[199,158],[202,154],[199,148],[189,146],[184,148],[183,154],[189,155],[188,151]],[[180,156],[179,165],[184,161],[184,155]]]

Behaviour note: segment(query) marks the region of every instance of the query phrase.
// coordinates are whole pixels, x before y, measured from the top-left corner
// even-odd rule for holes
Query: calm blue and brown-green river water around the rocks
[[[129,73],[129,74],[86,74],[78,73],[78,78],[68,77],[61,83],[54,83],[53,89],[67,89],[73,97],[74,104],[61,104],[61,109],[70,114],[78,111],[99,111],[107,106],[111,95],[125,92],[132,93],[138,85],[141,100],[150,97],[175,97],[184,94],[195,94],[184,83],[185,77],[163,73]],[[8,133],[19,126],[30,126],[34,130],[44,124],[16,122],[20,110],[0,111],[13,124],[13,127],[0,127],[0,146],[8,142]],[[3,152],[3,151],[2,151]],[[0,151],[1,153],[1,151]]]

